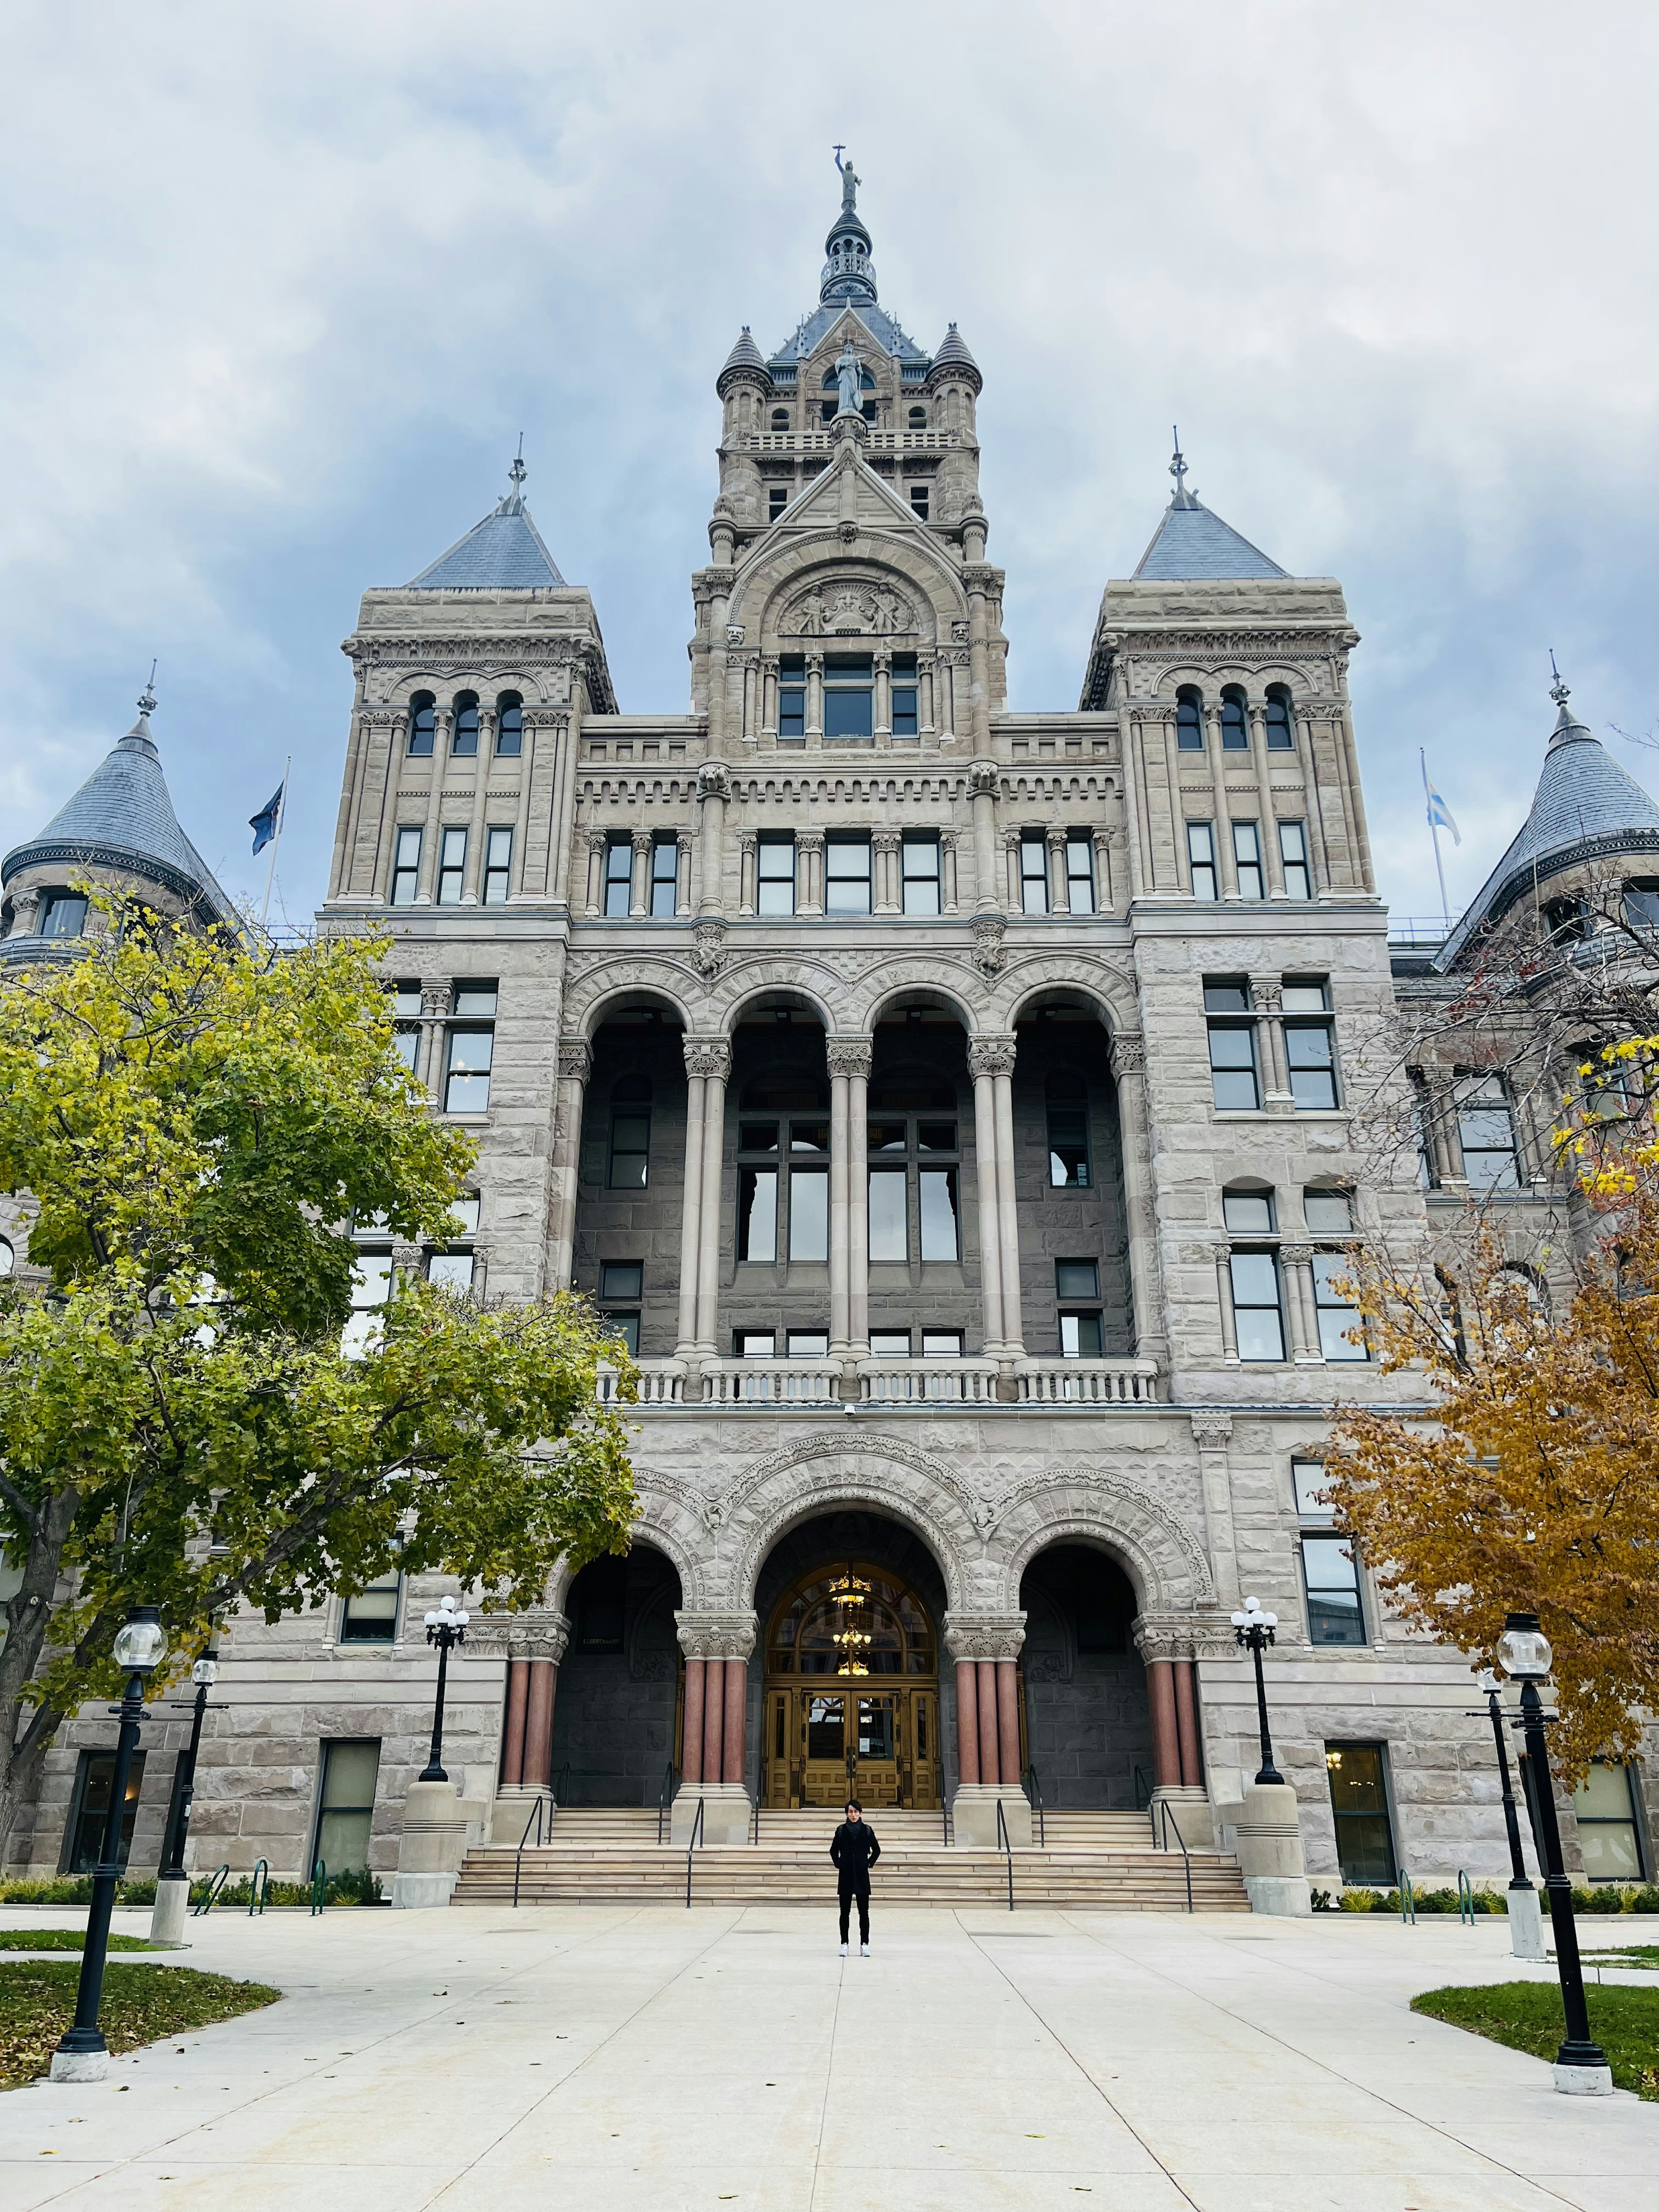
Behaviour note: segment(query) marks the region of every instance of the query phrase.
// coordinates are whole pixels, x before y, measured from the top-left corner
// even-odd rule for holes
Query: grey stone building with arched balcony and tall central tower
[[[980,367],[880,305],[852,173],[816,305],[714,389],[686,712],[619,710],[522,465],[345,641],[321,920],[392,931],[409,1064],[480,1144],[471,1234],[365,1237],[365,1305],[573,1283],[641,1367],[635,1548],[476,1621],[451,1772],[504,1840],[538,1796],[741,1840],[849,1778],[958,1843],[1155,1794],[1210,1840],[1250,1593],[1312,1878],[1506,1878],[1467,1661],[1321,1504],[1334,1396],[1411,1402],[1343,1252],[1473,1177],[1425,1199],[1354,1128],[1396,978],[1340,584],[1177,453],[1077,708],[1011,712]],[[434,1588],[234,1624],[197,1863],[396,1863]],[[24,1856],[82,1787],[66,1745]],[[1637,1798],[1582,1847],[1646,1865]]]

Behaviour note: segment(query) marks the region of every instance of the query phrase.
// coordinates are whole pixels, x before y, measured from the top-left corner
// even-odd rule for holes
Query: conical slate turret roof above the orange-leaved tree
[[[1533,885],[1619,852],[1659,852],[1659,805],[1568,710],[1566,684],[1557,684],[1551,697],[1559,712],[1533,807],[1440,949],[1436,967],[1442,971],[1455,967],[1482,925],[1531,896]]]

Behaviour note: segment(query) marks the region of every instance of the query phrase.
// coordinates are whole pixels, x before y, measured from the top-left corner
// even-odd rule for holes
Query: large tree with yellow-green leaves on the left
[[[95,905],[80,958],[0,984],[0,1190],[29,1212],[0,1292],[0,1858],[135,1604],[184,1659],[226,1608],[274,1621],[394,1564],[522,1606],[635,1517],[595,1396],[633,1367],[580,1298],[398,1281],[341,1349],[349,1223],[442,1241],[473,1164],[394,1051],[387,945],[268,956]]]

